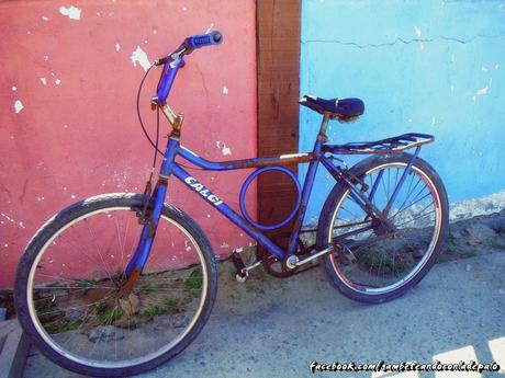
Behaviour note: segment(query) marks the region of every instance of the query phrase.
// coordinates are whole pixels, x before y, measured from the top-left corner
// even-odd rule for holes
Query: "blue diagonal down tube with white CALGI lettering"
[[[190,190],[194,191],[197,194],[200,194],[200,192],[205,191],[206,187],[203,186],[201,187],[200,191],[197,191],[192,184],[194,185],[195,183],[199,183],[197,179],[194,179],[191,174],[186,172],[182,168],[180,168],[177,163],[173,164],[172,168],[172,173],[178,177],[186,186],[188,186]],[[192,180],[189,180],[189,179]],[[188,181],[187,181],[188,179]],[[199,183],[200,184],[200,183]],[[279,259],[283,260],[285,257],[285,253],[278,247],[270,239],[268,239],[265,234],[261,232],[257,231],[255,228],[252,228],[249,224],[247,224],[237,213],[235,213],[228,205],[226,205],[224,202],[218,201],[217,203],[211,202],[209,198],[211,195],[213,195],[210,191],[206,192],[209,196],[205,198],[202,196],[202,199],[205,199],[209,204],[212,204],[214,208],[217,209],[221,214],[223,214],[226,218],[228,218],[232,222],[237,225],[240,229],[244,230],[248,236],[251,238],[256,239],[261,245],[263,245],[270,253],[274,254]],[[214,195],[215,196],[215,195]]]

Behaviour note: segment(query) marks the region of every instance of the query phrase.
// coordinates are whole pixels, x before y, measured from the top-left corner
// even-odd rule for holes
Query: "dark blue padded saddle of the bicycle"
[[[350,122],[364,112],[364,103],[360,99],[325,100],[313,95],[304,95],[299,103],[317,113],[330,113],[333,118],[340,122]]]

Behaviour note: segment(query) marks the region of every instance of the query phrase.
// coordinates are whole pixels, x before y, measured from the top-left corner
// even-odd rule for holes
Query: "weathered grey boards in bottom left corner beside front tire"
[[[0,378],[23,377],[30,341],[18,320],[0,322]]]

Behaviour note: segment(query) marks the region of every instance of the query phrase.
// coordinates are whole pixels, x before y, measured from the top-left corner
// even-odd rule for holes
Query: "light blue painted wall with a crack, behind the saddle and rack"
[[[356,123],[332,122],[334,142],[434,134],[422,157],[450,203],[505,188],[504,1],[304,0],[300,80],[301,94],[363,99]],[[301,150],[319,122],[301,108]],[[322,168],[306,222],[329,182]]]

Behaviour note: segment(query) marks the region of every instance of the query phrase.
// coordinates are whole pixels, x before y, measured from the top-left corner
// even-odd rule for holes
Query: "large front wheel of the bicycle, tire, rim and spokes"
[[[21,325],[49,359],[90,376],[131,376],[180,353],[209,319],[216,263],[201,229],[165,205],[152,253],[120,295],[143,226],[146,197],[88,198],[57,214],[18,267]]]

